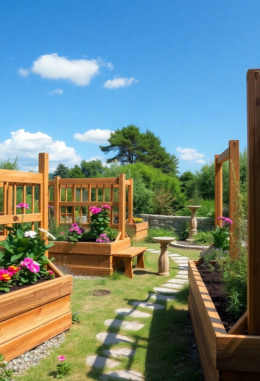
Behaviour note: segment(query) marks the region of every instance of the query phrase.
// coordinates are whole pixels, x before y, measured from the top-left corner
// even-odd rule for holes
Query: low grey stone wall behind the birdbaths
[[[190,217],[184,216],[160,216],[160,215],[143,215],[138,214],[136,217],[143,218],[148,222],[149,227],[174,227],[176,233],[181,231],[185,221],[190,221]],[[197,217],[197,229],[209,230],[214,226],[214,221],[207,217]]]

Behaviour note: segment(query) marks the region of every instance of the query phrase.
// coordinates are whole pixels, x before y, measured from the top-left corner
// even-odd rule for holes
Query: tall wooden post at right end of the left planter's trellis
[[[48,203],[49,203],[49,154],[46,152],[39,154],[39,173],[43,174],[43,192],[42,192],[42,216],[41,227],[48,230]],[[46,242],[47,243],[47,242]],[[48,251],[45,255],[48,257]]]

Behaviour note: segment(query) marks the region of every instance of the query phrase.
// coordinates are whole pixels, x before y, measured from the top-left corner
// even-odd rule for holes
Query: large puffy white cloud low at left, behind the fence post
[[[81,162],[80,155],[76,154],[73,147],[67,147],[65,142],[53,140],[51,136],[40,131],[35,134],[26,132],[24,129],[11,132],[11,139],[0,143],[0,158],[12,160],[18,155],[21,170],[37,168],[38,153],[49,153],[50,170],[57,163],[74,166]]]

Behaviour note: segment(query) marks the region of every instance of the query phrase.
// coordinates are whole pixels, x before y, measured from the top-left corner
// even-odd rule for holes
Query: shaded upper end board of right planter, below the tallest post
[[[217,337],[217,369],[258,372],[260,379],[260,337],[222,335]]]

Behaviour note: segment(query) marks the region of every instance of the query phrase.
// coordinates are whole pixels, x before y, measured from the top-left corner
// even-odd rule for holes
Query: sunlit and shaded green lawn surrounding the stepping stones
[[[135,243],[136,245],[136,243]],[[159,248],[159,244],[137,243],[148,248]],[[169,248],[168,251],[198,259],[198,250],[183,250]],[[118,280],[73,280],[72,311],[79,311],[81,323],[74,324],[66,332],[65,342],[55,349],[39,365],[30,368],[23,376],[15,377],[20,381],[47,381],[54,379],[57,356],[67,356],[67,362],[72,367],[70,381],[98,380],[101,373],[112,370],[135,370],[143,373],[146,381],[196,381],[198,365],[193,362],[190,334],[185,331],[189,321],[187,311],[187,287],[181,290],[174,301],[159,301],[165,309],[152,311],[147,308],[133,307],[131,302],[149,300],[148,294],[154,293],[154,287],[160,287],[178,272],[178,266],[170,260],[170,276],[159,277],[158,254],[146,252],[146,268],[135,269],[134,279],[121,275]],[[97,289],[110,290],[107,296],[92,296],[91,291]],[[116,316],[114,310],[120,307],[137,308],[152,315],[149,318],[131,318]],[[128,331],[122,328],[111,328],[104,325],[106,319],[122,319],[144,323],[138,331]],[[103,345],[95,336],[100,332],[114,332],[128,336],[134,343],[119,343]],[[135,350],[133,357],[114,358],[120,365],[113,369],[97,369],[86,365],[89,355],[101,355],[104,349],[128,347]],[[113,359],[111,357],[111,359]]]

